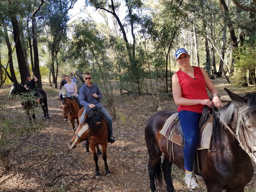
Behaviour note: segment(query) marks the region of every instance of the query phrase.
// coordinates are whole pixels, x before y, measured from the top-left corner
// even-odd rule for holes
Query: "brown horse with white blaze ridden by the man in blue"
[[[81,116],[84,108],[79,111],[79,117]],[[87,114],[87,113],[86,113]],[[103,118],[98,108],[93,108],[90,114],[86,116],[85,120],[81,120],[79,126],[75,129],[72,140],[69,143],[69,148],[75,148],[80,142],[88,139],[90,148],[93,153],[93,159],[96,166],[96,178],[100,177],[98,167],[98,155],[96,153],[96,146],[102,146],[103,160],[105,163],[105,171],[107,176],[111,176],[111,172],[108,169],[107,164],[107,138],[108,138],[108,127],[105,118]]]

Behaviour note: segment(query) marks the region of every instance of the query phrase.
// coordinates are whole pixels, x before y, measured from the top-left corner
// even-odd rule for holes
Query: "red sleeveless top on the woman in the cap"
[[[179,83],[181,86],[181,94],[182,97],[187,99],[209,99],[209,96],[206,91],[205,81],[204,81],[204,74],[201,71],[200,67],[194,67],[194,77],[190,77],[182,70],[176,72]],[[193,111],[197,113],[202,113],[204,105],[197,104],[197,105],[180,105],[178,106],[178,111],[187,110]]]

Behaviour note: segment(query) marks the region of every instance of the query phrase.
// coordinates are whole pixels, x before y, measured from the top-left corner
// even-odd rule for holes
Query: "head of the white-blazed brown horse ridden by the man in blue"
[[[99,120],[101,121],[98,122]],[[102,116],[98,114],[98,112],[90,114],[83,122],[80,122],[80,124],[76,126],[68,147],[70,149],[75,148],[80,142],[86,140],[86,138],[90,139],[90,136],[94,136],[94,133],[98,132],[101,128]]]

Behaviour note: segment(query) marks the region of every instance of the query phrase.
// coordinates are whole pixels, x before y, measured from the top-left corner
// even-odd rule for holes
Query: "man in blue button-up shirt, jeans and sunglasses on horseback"
[[[97,85],[92,83],[92,76],[90,73],[84,74],[85,84],[79,90],[80,104],[84,106],[84,112],[80,117],[83,120],[87,111],[90,111],[94,107],[98,107],[106,118],[108,126],[108,142],[114,143],[116,140],[113,136],[112,118],[108,114],[107,110],[100,103],[102,94]],[[85,144],[86,145],[86,144]]]

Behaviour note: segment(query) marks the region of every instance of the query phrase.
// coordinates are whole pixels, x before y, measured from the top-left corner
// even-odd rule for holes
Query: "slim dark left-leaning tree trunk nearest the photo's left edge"
[[[6,42],[6,46],[8,49],[8,63],[9,63],[9,68],[10,68],[10,74],[11,74],[11,81],[18,83],[18,80],[16,79],[16,75],[14,72],[14,67],[13,67],[13,60],[12,60],[12,46],[10,44],[6,24],[3,22],[3,27],[4,27],[4,39]],[[7,67],[7,66],[6,66]]]

